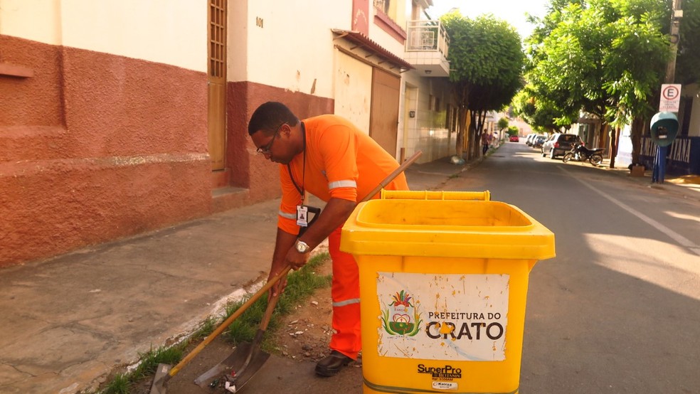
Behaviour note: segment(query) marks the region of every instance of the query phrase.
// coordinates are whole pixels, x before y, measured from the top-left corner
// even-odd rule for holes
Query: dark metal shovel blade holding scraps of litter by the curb
[[[245,361],[248,359],[248,355],[250,355],[250,361],[246,365]],[[260,371],[267,358],[270,358],[269,353],[260,350],[258,346],[243,342],[238,344],[233,353],[230,353],[224,361],[196,378],[194,383],[201,388],[206,388],[213,379],[226,375],[226,378],[235,384],[235,392],[237,393],[245,383],[248,383],[250,378],[253,378],[255,373]]]

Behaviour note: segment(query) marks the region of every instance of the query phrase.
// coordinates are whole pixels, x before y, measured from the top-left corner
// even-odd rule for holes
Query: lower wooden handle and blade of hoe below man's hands
[[[184,366],[189,364],[189,362],[199,354],[200,351],[202,351],[203,348],[205,348],[211,341],[213,341],[219,334],[221,334],[224,330],[226,330],[226,327],[230,326],[231,323],[235,319],[238,319],[238,316],[243,314],[246,309],[248,309],[251,305],[255,304],[256,301],[260,297],[267,292],[267,290],[270,289],[270,287],[274,286],[275,283],[279,282],[280,279],[285,277],[287,275],[287,272],[289,272],[291,267],[285,267],[282,272],[277,274],[275,277],[272,277],[272,279],[268,280],[263,287],[260,287],[260,290],[253,294],[253,296],[248,299],[243,305],[241,305],[233,314],[228,316],[228,319],[224,320],[223,323],[221,323],[216,330],[212,331],[209,336],[204,339],[201,344],[199,344],[196,348],[194,348],[185,358],[182,359],[176,366],[171,367],[169,364],[158,364],[158,368],[156,370],[156,376],[153,378],[153,383],[151,383],[151,391],[149,394],[165,394],[166,392],[166,387],[165,384],[170,380],[173,376],[175,376]],[[270,300],[270,303],[268,303],[267,310],[272,310],[270,308],[270,304],[272,304],[272,307],[274,308],[274,304],[277,302],[277,299]],[[272,312],[270,312],[270,315]],[[267,316],[267,311],[265,311],[265,316]],[[269,316],[267,317],[267,321],[269,321],[270,318]],[[267,326],[267,324],[265,324]],[[257,336],[256,336],[257,338]]]

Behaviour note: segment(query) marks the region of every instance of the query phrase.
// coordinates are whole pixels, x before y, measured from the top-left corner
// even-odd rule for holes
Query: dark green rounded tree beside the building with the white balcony
[[[521,87],[524,53],[519,34],[509,23],[492,15],[467,18],[452,11],[440,18],[450,36],[450,82],[458,111],[457,155],[467,138],[468,156],[475,154],[477,132],[487,111],[508,104]],[[470,130],[465,132],[467,114]]]

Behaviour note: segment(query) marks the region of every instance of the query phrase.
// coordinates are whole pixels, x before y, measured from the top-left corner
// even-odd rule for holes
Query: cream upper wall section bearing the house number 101
[[[229,80],[332,97],[331,29],[349,29],[351,10],[351,1],[250,1],[247,35],[234,38],[247,40],[248,68],[232,70]],[[229,53],[230,58],[235,55]]]

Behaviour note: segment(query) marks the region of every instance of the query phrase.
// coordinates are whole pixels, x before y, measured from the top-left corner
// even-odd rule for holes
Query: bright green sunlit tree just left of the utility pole
[[[632,122],[649,110],[660,86],[668,41],[665,4],[657,0],[553,1],[529,40],[531,92],[553,103],[555,124],[583,110],[607,124]],[[611,139],[611,155],[617,144]],[[614,166],[614,161],[611,161]]]

